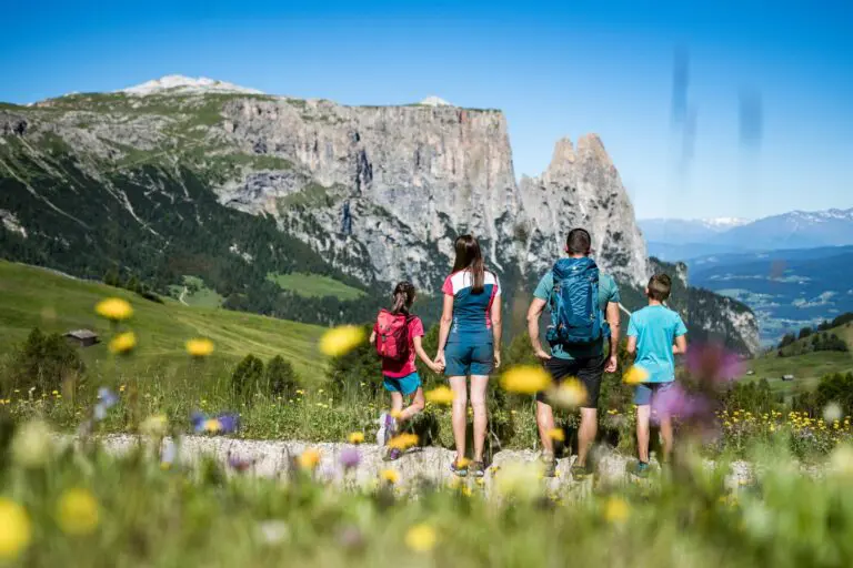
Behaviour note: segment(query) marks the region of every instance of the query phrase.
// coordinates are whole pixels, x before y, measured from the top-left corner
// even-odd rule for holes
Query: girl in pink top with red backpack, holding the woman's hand
[[[440,367],[423,351],[423,323],[412,315],[415,291],[410,282],[401,282],[394,287],[391,310],[382,310],[370,334],[370,343],[377,346],[382,357],[382,375],[385,390],[391,393],[391,413],[382,413],[379,418],[377,443],[384,446],[397,434],[398,424],[410,419],[423,410],[424,398],[421,377],[414,366],[415,353],[434,373]],[[409,406],[403,409],[403,397],[411,396]],[[398,459],[401,452],[392,448],[387,459]]]

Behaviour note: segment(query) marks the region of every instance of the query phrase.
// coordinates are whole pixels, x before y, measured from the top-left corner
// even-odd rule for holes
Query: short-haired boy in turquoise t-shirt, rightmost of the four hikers
[[[649,305],[634,312],[628,325],[628,353],[636,355],[634,366],[643,374],[643,382],[634,389],[636,405],[636,449],[640,460],[632,471],[638,476],[649,473],[649,418],[652,403],[675,381],[675,355],[688,351],[688,328],[681,316],[663,305],[670,297],[672,280],[655,274],[649,281],[645,295]],[[672,420],[659,416],[663,437],[663,460],[672,450]]]

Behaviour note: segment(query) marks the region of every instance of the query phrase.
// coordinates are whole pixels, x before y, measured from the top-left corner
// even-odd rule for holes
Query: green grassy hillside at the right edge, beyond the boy
[[[811,389],[817,385],[821,377],[830,373],[846,373],[853,371],[853,324],[844,324],[827,329],[847,343],[851,351],[843,352],[814,352],[803,355],[780,357],[779,352],[772,352],[756,357],[750,362],[749,369],[754,374],[746,379],[766,378],[774,390],[785,394],[795,389]],[[785,352],[794,352],[801,348],[811,337],[797,339],[785,347]],[[794,381],[782,381],[783,375],[794,375]]]

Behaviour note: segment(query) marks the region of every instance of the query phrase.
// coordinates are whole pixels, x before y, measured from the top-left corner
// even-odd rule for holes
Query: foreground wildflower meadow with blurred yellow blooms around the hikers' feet
[[[235,372],[193,383],[215,374],[208,337],[185,339],[179,381],[123,373],[143,341],[133,307],[111,298],[96,311],[112,328],[114,373],[103,384],[66,381],[49,392],[16,385],[2,394],[2,565],[853,562],[850,416],[837,405],[820,416],[775,403],[763,408],[766,397],[733,407],[752,398],[721,379],[736,362],[717,346],[698,346],[686,362],[665,402],[676,417],[673,458],[643,479],[613,467],[589,479],[565,468],[543,477],[531,457],[532,397],[550,382],[511,346],[490,387],[486,475],[452,478],[424,458],[452,447],[452,394],[438,376],[425,374],[426,408],[388,444],[400,460],[378,462],[371,440],[385,403],[369,371],[358,374],[369,355],[361,327],[320,337],[321,381],[273,389],[262,374],[249,387],[241,383],[249,375]],[[638,373],[629,366],[608,379],[595,454],[631,459],[634,409],[624,392]],[[571,460],[583,386],[566,381],[548,396],[562,409],[548,435]],[[300,449],[282,449],[260,475],[269,456],[224,452],[243,439],[300,440]],[[747,475],[732,476],[744,467]]]

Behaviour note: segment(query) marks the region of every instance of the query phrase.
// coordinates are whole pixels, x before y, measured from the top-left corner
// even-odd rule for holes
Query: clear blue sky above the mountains
[[[853,206],[846,0],[46,0],[3,19],[2,101],[171,73],[347,104],[436,94],[502,109],[518,175],[541,173],[558,139],[598,132],[641,219]]]

